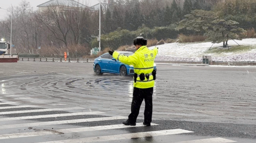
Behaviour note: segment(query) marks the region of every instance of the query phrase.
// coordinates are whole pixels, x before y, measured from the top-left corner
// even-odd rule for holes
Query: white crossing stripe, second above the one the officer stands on
[[[77,112],[77,113],[65,113],[65,114],[51,114],[51,115],[36,115],[36,116],[21,116],[11,118],[0,118],[0,121],[13,121],[13,120],[26,120],[26,119],[39,119],[39,118],[52,118],[52,117],[64,117],[64,116],[78,116],[78,115],[93,115],[104,114],[105,112]]]

